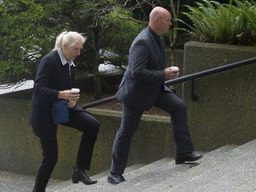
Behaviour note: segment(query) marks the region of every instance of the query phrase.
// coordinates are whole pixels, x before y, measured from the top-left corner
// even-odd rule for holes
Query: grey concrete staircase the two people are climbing
[[[196,164],[175,165],[173,159],[163,158],[152,164],[134,164],[124,172],[127,180],[118,185],[107,182],[108,171],[92,176],[98,183],[92,186],[51,180],[47,192],[256,192],[256,140],[242,146],[224,146],[209,153]],[[16,176],[17,177],[17,176]],[[1,178],[1,177],[0,177]],[[21,184],[21,181],[18,183]],[[24,179],[22,179],[25,181]],[[26,180],[31,191],[32,178]],[[2,179],[0,180],[2,183]],[[17,182],[17,181],[16,181]],[[2,184],[1,184],[2,186]],[[5,186],[6,187],[6,186]],[[20,189],[20,188],[19,188]],[[0,191],[23,191],[3,190]]]

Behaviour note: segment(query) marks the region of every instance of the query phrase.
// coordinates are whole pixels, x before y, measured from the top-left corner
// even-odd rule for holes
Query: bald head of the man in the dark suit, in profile
[[[149,26],[160,35],[171,27],[171,13],[163,7],[155,7],[149,14]]]

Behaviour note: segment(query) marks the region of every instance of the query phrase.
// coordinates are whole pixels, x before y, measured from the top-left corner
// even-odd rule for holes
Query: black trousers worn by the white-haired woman
[[[92,152],[100,129],[99,122],[89,113],[83,110],[70,110],[69,123],[64,124],[83,132],[80,146],[76,156],[76,167],[90,170]],[[58,160],[58,143],[56,140],[44,140],[40,138],[43,150],[43,161],[36,175],[33,192],[44,192],[50,180],[53,168]]]

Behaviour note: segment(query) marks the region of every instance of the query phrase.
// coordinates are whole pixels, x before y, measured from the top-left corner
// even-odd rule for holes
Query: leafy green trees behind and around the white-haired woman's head
[[[63,30],[87,37],[76,59],[78,69],[97,68],[101,48],[115,52],[116,60],[123,62],[140,25],[121,18],[129,13],[120,7],[109,0],[4,0],[0,4],[0,84],[34,79],[37,65]]]

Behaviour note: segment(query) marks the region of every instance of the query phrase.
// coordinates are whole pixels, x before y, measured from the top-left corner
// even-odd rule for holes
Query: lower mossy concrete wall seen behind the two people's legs
[[[0,108],[0,171],[36,175],[42,152],[39,140],[28,124],[30,101],[1,99]],[[100,121],[100,132],[89,172],[93,175],[109,169],[111,148],[120,125],[121,112],[96,108],[89,108],[88,111]],[[70,180],[81,135],[81,132],[71,128],[58,127],[59,160],[52,173],[53,178]],[[170,117],[143,116],[132,141],[129,164],[148,164],[172,155]]]

